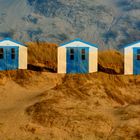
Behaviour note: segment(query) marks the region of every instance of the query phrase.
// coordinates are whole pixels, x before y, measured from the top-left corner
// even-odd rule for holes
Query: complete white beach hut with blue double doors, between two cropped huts
[[[58,73],[97,72],[98,47],[75,39],[58,47]]]

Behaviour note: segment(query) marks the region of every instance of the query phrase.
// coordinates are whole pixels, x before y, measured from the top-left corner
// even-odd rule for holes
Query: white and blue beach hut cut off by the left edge
[[[11,38],[0,40],[0,70],[27,69],[27,47]]]

